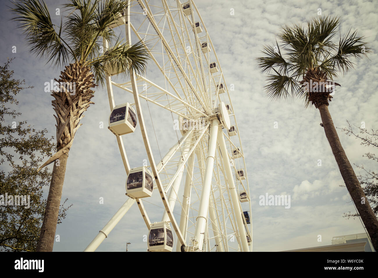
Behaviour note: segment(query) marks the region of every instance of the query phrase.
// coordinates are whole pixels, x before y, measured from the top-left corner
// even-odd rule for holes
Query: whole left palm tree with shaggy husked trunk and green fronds
[[[55,79],[58,90],[51,91],[57,153],[42,165],[54,162],[37,251],[53,250],[68,152],[84,111],[93,104],[91,88],[104,85],[109,68],[125,75],[130,70],[144,73],[149,59],[143,43],[128,45],[110,28],[127,8],[127,1],[69,0],[64,8],[70,13],[62,16],[57,26],[43,0],[19,0],[11,7],[12,20],[23,29],[30,52],[47,59],[55,68],[68,64]],[[113,42],[115,47],[103,51],[102,39]]]

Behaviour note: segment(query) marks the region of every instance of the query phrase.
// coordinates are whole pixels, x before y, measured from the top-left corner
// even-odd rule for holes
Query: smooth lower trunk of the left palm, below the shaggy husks
[[[58,158],[56,162],[54,162],[54,168],[50,182],[50,190],[48,192],[45,208],[45,215],[43,217],[41,234],[39,236],[39,241],[37,244],[37,252],[53,251],[67,159],[68,153],[64,153]]]

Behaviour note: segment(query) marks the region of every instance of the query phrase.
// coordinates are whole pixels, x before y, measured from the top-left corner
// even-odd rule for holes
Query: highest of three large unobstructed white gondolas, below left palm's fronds
[[[130,103],[123,103],[113,108],[109,116],[109,129],[116,135],[132,133],[136,128],[136,115]]]

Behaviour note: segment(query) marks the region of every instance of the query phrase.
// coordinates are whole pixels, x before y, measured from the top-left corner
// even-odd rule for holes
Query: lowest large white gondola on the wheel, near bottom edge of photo
[[[171,252],[173,247],[172,230],[167,222],[155,222],[151,224],[148,234],[148,251]]]

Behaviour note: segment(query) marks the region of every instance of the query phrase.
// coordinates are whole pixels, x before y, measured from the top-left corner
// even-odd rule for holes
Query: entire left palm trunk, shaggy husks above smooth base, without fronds
[[[94,93],[91,88],[96,86],[90,67],[77,61],[66,66],[65,70],[60,73],[60,79],[55,79],[60,84],[59,90],[53,91],[51,94],[54,97],[52,104],[56,112],[54,117],[56,119],[57,153],[40,167],[43,168],[54,162],[45,215],[37,244],[37,251],[42,252],[53,251],[68,151],[77,129],[81,126],[80,120],[84,117],[83,113],[90,104],[93,104],[90,101]],[[72,92],[66,90],[67,84],[70,85],[70,89],[73,88]],[[55,162],[56,159],[59,159],[59,164]]]

